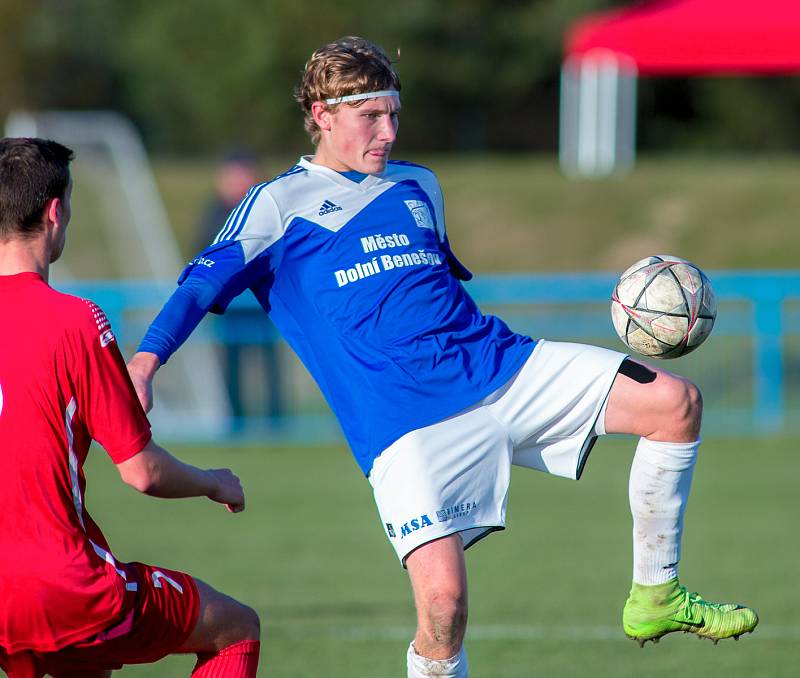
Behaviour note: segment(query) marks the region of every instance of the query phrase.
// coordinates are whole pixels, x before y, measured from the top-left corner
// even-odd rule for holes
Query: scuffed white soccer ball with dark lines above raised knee
[[[611,295],[611,319],[626,346],[649,358],[677,358],[711,334],[717,303],[697,266],[658,255],[637,261]]]

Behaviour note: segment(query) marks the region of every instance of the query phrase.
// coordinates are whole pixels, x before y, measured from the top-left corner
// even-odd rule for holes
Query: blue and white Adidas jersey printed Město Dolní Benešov
[[[469,278],[430,170],[395,161],[358,182],[301,158],[250,190],[140,350],[165,362],[206,311],[252,290],[369,474],[394,441],[481,400],[533,350],[480,312],[460,282]]]

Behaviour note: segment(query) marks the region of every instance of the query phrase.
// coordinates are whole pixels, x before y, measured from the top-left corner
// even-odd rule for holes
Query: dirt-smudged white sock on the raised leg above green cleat
[[[631,465],[633,581],[663,584],[678,576],[683,514],[700,441],[662,443],[641,438]]]

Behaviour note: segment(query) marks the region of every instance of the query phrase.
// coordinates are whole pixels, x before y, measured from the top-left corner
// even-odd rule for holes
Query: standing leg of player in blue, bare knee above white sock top
[[[406,560],[417,608],[408,678],[467,678],[467,570],[458,534],[429,542]]]

